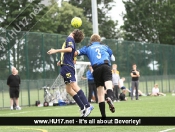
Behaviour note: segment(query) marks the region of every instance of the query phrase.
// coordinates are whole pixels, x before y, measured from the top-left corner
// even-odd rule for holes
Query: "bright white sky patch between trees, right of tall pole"
[[[125,7],[122,0],[115,0],[115,2],[116,3],[114,4],[112,10],[109,12],[109,15],[111,15],[111,18],[113,20],[118,20],[118,26],[120,27],[121,25],[123,25],[123,19],[121,14],[122,12],[125,14]]]

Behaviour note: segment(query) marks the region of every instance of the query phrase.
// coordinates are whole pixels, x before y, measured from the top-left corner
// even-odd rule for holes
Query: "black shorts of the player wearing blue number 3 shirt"
[[[96,87],[104,86],[104,82],[112,81],[111,67],[108,64],[96,66],[93,72]]]

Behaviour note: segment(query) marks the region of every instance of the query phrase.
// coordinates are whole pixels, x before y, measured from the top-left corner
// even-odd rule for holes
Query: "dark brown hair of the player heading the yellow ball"
[[[74,34],[75,43],[80,43],[84,39],[84,33],[81,30],[75,29],[72,33]]]

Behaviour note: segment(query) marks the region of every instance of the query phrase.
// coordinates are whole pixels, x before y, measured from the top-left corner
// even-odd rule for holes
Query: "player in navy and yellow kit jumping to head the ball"
[[[63,43],[62,49],[50,49],[47,53],[54,54],[61,52],[61,76],[66,84],[66,91],[73,97],[80,107],[81,117],[87,117],[93,110],[89,104],[84,92],[77,85],[74,67],[74,52],[76,51],[75,43],[80,43],[84,39],[84,33],[75,29]]]

